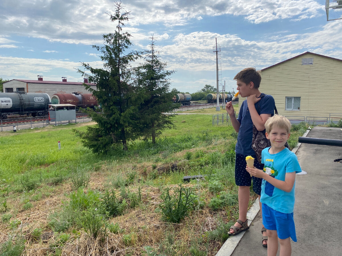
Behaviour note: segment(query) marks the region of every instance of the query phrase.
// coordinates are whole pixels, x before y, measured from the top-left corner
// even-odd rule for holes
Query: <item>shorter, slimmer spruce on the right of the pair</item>
[[[156,143],[156,137],[163,130],[174,127],[174,115],[162,113],[171,112],[178,105],[173,104],[174,93],[170,91],[169,76],[174,71],[165,70],[167,63],[160,60],[153,35],[150,39],[150,50],[144,53],[145,62],[137,68],[137,83],[144,92],[144,99],[139,107],[136,127],[140,129],[141,136],[152,138],[152,143]]]

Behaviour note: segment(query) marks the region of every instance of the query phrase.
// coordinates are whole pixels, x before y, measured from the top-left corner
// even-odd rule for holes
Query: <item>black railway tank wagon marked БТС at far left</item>
[[[46,93],[0,93],[0,119],[9,114],[48,115],[50,96]]]

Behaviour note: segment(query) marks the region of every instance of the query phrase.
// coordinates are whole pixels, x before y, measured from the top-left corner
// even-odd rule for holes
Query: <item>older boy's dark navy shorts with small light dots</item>
[[[264,165],[258,162],[256,156],[254,156],[254,167],[260,170],[264,169]],[[246,156],[241,154],[235,154],[235,184],[237,186],[250,187],[253,180],[253,191],[257,195],[261,195],[261,178],[254,177],[246,171]]]

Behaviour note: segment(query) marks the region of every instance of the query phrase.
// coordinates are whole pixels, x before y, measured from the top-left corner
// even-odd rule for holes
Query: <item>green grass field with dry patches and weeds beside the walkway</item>
[[[1,132],[0,254],[215,255],[237,218],[237,133],[211,119],[178,115],[108,155],[83,147],[83,124]]]

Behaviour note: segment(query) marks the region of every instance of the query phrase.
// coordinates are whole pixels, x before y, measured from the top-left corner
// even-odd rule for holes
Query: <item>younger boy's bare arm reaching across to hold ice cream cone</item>
[[[285,181],[280,181],[259,169],[247,167],[246,170],[253,176],[262,178],[265,181],[271,183],[276,188],[284,190],[285,192],[290,192],[292,190],[294,181],[296,179],[295,171],[285,173]]]

